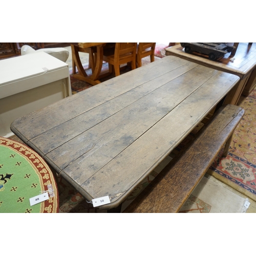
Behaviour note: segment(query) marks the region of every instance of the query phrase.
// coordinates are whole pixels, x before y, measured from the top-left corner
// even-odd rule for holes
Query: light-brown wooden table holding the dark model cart
[[[240,42],[236,54],[233,57],[230,57],[230,53],[227,53],[222,59],[214,61],[209,60],[208,56],[197,52],[185,53],[181,45],[176,45],[165,50],[166,55],[174,55],[209,68],[238,75],[241,81],[237,84],[236,90],[233,90],[233,93],[229,94],[226,98],[225,103],[230,102],[236,105],[242,92],[244,91],[243,94],[248,96],[253,89],[253,85],[255,85],[256,44],[248,45],[248,43]]]

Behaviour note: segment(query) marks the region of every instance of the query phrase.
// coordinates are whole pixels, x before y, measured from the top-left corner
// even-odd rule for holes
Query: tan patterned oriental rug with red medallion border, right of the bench
[[[245,110],[234,131],[226,158],[217,157],[208,174],[256,201],[256,90],[241,96]]]

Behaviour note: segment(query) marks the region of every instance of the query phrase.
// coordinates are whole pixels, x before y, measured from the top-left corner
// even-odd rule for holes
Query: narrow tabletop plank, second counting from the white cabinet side
[[[126,106],[131,105],[167,82],[187,73],[189,70],[193,70],[197,66],[196,63],[187,62],[179,69],[172,70],[162,76],[143,83],[140,86],[121,94],[119,97],[106,101],[81,115],[71,118],[67,122],[59,124],[49,131],[32,138],[28,144],[32,147],[34,147],[33,145],[37,145],[37,150],[39,150],[41,154],[47,154],[60,145],[65,144],[67,141],[86,132],[97,123],[104,121],[126,108]],[[63,113],[63,115],[64,114],[65,113]]]

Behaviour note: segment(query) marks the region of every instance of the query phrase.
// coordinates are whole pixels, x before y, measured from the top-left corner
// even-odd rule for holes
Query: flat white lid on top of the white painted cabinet
[[[68,67],[68,64],[45,53],[35,52],[0,60],[0,86]]]

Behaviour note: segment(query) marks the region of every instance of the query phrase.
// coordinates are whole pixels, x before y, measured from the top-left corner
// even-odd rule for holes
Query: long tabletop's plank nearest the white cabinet
[[[143,66],[132,70],[129,73],[123,74],[121,77],[114,77],[113,79],[102,82],[100,86],[94,86],[79,94],[55,102],[44,109],[18,118],[11,124],[11,130],[17,136],[23,136],[26,140],[30,140],[56,127],[60,123],[70,120],[70,118],[89,111],[186,63],[186,60],[174,56],[154,61],[148,64],[147,68]],[[33,125],[33,129],[30,129],[31,125]]]

